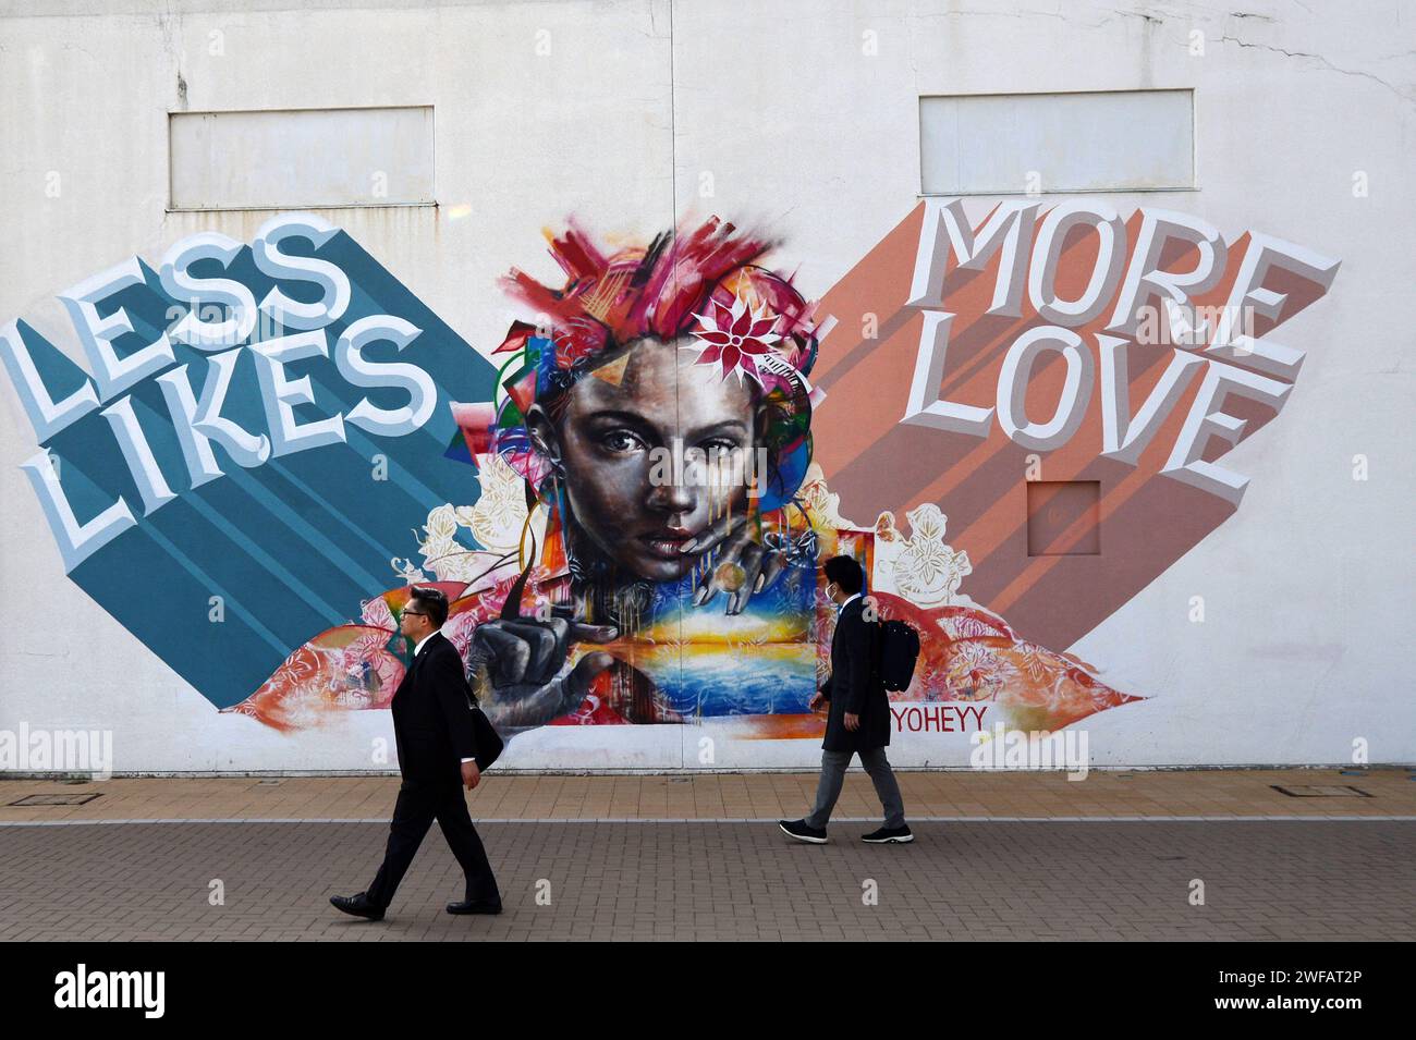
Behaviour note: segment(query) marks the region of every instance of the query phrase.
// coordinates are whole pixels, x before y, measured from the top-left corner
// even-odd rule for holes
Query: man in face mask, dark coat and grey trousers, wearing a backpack
[[[915,835],[905,824],[905,802],[885,758],[885,747],[889,744],[889,696],[881,681],[875,618],[865,616],[865,574],[861,565],[850,556],[833,556],[826,562],[826,594],[835,604],[831,678],[811,698],[813,712],[823,702],[830,705],[826,740],[821,744],[821,780],[811,815],[806,819],[783,819],[779,825],[799,842],[826,845],[826,825],[841,795],[845,770],[851,764],[851,756],[858,754],[885,808],[885,826],[865,835],[862,840],[875,845],[912,842]]]

